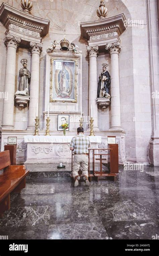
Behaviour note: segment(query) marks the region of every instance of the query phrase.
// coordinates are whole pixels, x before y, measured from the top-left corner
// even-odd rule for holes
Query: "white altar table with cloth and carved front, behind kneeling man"
[[[27,143],[27,161],[25,164],[70,163],[72,153],[69,143],[73,136],[24,136]],[[91,147],[98,148],[101,136],[90,136]]]

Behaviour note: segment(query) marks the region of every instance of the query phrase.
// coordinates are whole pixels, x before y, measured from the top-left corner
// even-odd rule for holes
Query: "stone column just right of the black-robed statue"
[[[111,56],[111,127],[110,131],[121,131],[120,121],[120,87],[119,87],[119,60],[121,51],[120,42],[116,41],[106,45]]]

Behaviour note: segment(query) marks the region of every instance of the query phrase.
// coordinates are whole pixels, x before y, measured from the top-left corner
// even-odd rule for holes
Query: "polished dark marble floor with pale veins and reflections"
[[[159,234],[159,167],[73,187],[69,173],[33,172],[0,220],[9,239],[152,239]]]

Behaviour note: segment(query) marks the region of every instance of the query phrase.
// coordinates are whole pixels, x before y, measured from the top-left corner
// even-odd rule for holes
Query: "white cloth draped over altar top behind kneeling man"
[[[25,143],[70,143],[74,136],[24,136]],[[101,143],[101,136],[89,136],[91,143]]]

